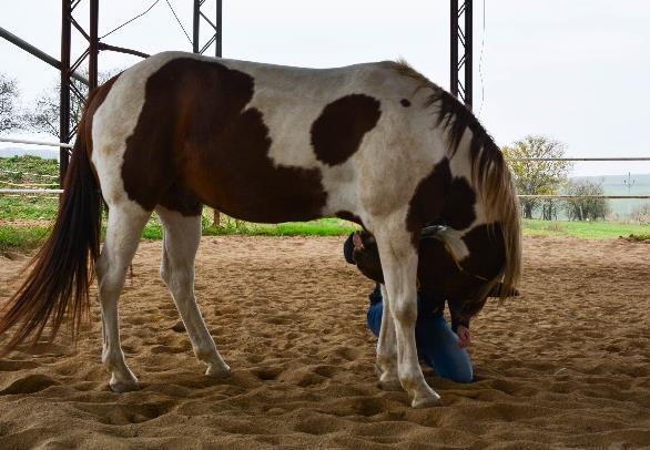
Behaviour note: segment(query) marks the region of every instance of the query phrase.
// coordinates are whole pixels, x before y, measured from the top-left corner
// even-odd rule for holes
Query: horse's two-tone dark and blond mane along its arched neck
[[[427,89],[430,94],[424,102],[425,109],[435,109],[435,127],[441,129],[448,141],[448,156],[454,157],[465,132],[471,132],[469,155],[473,184],[477,188],[486,219],[500,222],[506,249],[506,268],[504,270],[502,293],[511,292],[520,276],[520,216],[515,184],[500,149],[488,134],[478,119],[454,95],[438,86],[425,75],[412,68],[406,61],[390,62],[393,69],[402,76],[416,82],[415,92]],[[494,284],[498,278],[494,280]],[[491,285],[486,287],[487,292]],[[486,292],[486,295],[487,295]]]

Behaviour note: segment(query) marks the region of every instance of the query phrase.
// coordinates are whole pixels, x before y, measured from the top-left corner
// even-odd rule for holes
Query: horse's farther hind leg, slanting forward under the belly
[[[185,324],[194,355],[207,365],[205,375],[227,376],[230,368],[216,350],[194,298],[194,257],[201,241],[201,215],[183,216],[160,206],[156,213],[164,226],[160,274]]]

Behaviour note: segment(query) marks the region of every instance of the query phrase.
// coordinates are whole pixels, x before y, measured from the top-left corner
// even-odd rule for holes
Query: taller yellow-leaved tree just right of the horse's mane
[[[544,136],[529,135],[502,149],[506,158],[526,157],[563,157],[565,146]],[[567,181],[571,163],[568,161],[509,161],[515,174],[515,182],[519,194],[552,195]],[[532,213],[544,202],[541,198],[521,198],[521,211],[526,218],[532,218]],[[544,218],[550,219],[556,206],[552,202],[546,203]]]

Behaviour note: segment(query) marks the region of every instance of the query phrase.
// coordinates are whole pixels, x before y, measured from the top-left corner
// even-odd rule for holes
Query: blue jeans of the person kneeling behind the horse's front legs
[[[430,366],[438,376],[456,382],[471,382],[473,370],[469,354],[458,347],[458,336],[449,328],[440,311],[430,317],[423,317],[418,297],[418,317],[415,324],[415,342],[417,355]],[[379,336],[382,328],[383,303],[370,305],[368,309],[368,328]]]

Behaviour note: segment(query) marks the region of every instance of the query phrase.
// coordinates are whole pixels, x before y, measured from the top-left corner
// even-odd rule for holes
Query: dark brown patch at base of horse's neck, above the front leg
[[[438,217],[456,229],[467,228],[476,218],[476,194],[465,178],[451,177],[449,160],[434,166],[420,181],[408,205],[406,226],[415,248],[419,245],[425,223]]]

